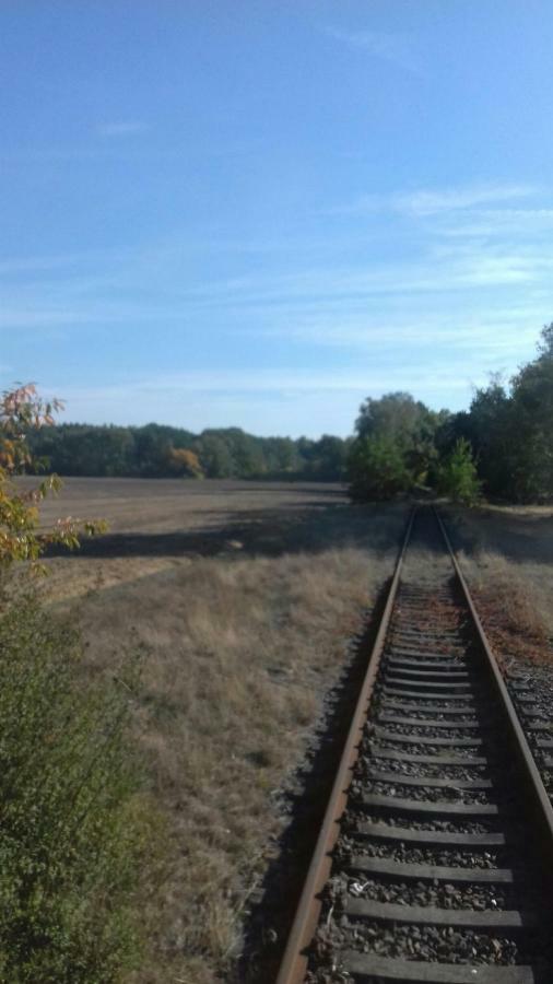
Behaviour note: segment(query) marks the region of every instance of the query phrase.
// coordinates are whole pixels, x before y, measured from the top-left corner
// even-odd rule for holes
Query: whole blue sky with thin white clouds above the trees
[[[0,383],[348,434],[553,320],[550,0],[3,0]]]

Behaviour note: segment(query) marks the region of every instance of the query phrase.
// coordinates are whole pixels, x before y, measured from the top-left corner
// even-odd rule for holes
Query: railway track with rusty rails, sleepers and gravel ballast
[[[421,507],[278,984],[553,984],[552,890],[550,800],[442,520]]]

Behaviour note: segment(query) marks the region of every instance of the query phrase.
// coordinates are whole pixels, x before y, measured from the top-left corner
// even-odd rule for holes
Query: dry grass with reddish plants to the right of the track
[[[449,509],[460,561],[503,666],[553,658],[553,514],[543,507]]]

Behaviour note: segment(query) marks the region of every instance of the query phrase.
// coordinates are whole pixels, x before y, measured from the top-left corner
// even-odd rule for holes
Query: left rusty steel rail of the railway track
[[[319,893],[330,875],[330,868],[332,866],[331,852],[340,834],[340,819],[348,803],[348,792],[351,785],[353,770],[358,758],[358,749],[367,719],[368,705],[373,695],[375,680],[380,665],[380,657],[386,642],[386,633],[388,631],[396,596],[398,594],[403,560],[411,538],[415,513],[416,508],[413,508],[407,524],[405,535],[403,537],[403,543],[388,591],[386,607],[370,652],[367,671],[363,680],[363,686],[340,759],[337,776],[317,839],[311,863],[307,871],[304,889],[299,898],[286,949],[284,950],[279,976],[276,977],[276,984],[301,984],[305,977],[307,956],[304,951],[310,944],[319,921],[322,905]]]

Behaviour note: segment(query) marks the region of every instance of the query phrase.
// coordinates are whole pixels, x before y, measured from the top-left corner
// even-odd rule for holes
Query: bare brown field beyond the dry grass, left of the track
[[[320,528],[328,525],[331,537],[344,507],[339,484],[67,478],[60,496],[44,504],[43,526],[92,517],[107,520],[109,530],[71,557],[69,579],[67,564],[52,562],[48,589],[51,595],[59,583],[68,599],[198,557],[320,549]]]

